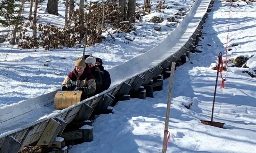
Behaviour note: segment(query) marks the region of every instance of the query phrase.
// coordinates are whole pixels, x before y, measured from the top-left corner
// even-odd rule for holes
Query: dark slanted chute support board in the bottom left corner
[[[22,144],[18,140],[12,136],[8,136],[5,138],[0,153],[18,153],[21,146]]]

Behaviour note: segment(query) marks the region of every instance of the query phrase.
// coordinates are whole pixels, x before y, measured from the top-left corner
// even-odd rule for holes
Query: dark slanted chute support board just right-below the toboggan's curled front
[[[90,116],[92,115],[92,111],[93,108],[91,106],[89,106],[88,104],[84,103],[78,114],[76,115],[76,121],[84,121],[84,120],[88,120],[90,118]]]

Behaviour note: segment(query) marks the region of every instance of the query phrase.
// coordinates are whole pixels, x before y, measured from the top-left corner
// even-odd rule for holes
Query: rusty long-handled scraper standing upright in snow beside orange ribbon
[[[205,120],[200,120],[201,123],[205,124],[205,125],[210,125],[210,126],[215,126],[215,127],[220,127],[223,128],[225,123],[221,123],[221,122],[213,122],[213,110],[214,110],[214,103],[215,103],[215,97],[216,97],[216,90],[217,90],[217,84],[218,84],[218,76],[219,76],[219,71],[220,71],[220,64],[222,61],[222,53],[219,53],[219,63],[218,63],[218,70],[217,70],[217,77],[216,77],[216,83],[215,83],[215,90],[214,90],[214,96],[213,96],[213,103],[212,103],[212,118],[211,121],[205,121]]]

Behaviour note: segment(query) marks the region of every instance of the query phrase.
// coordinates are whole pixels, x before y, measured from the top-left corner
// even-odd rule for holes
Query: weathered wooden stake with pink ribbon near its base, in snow
[[[175,69],[175,62],[172,62],[169,93],[168,93],[168,102],[167,102],[166,116],[165,116],[164,142],[163,142],[162,153],[165,153],[166,149],[167,149],[167,143],[166,142],[167,142],[167,134],[168,134],[168,126],[169,126],[169,118],[170,118],[170,109],[171,109],[172,83],[173,83],[173,77],[174,77],[174,69]]]

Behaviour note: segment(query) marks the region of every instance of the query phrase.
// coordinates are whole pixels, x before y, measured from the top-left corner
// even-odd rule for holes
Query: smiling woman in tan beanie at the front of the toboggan
[[[84,58],[76,59],[75,69],[68,73],[61,85],[61,90],[81,90],[86,97],[94,94],[96,83]]]

